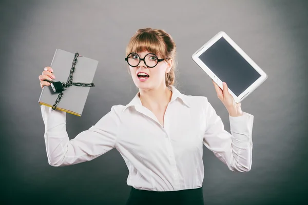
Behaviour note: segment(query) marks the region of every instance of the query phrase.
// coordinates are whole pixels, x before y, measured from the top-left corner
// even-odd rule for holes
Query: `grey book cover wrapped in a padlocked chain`
[[[77,57],[77,64],[75,65],[75,72],[73,73],[73,83],[94,83],[93,78],[95,71],[97,70],[99,61],[83,56]],[[65,50],[56,49],[50,67],[53,69],[55,79],[52,81],[61,81],[66,83],[70,74],[70,70],[73,65],[75,53],[71,53]],[[94,84],[95,85],[95,84]],[[57,104],[56,109],[65,111],[70,114],[81,116],[86,100],[93,87],[84,86],[70,86],[63,91],[63,97]],[[55,93],[51,85],[44,86],[41,92],[38,103],[48,107],[52,107],[55,104],[59,93]]]

